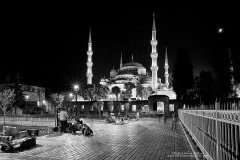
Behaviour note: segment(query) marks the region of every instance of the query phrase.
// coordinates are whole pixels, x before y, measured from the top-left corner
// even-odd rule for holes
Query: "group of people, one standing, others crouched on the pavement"
[[[64,108],[61,109],[61,111],[59,113],[59,120],[61,123],[61,129],[60,129],[61,133],[66,133],[68,130],[72,134],[75,134],[76,131],[82,131],[82,134],[84,134],[84,135],[92,135],[93,134],[93,131],[90,129],[90,127],[83,123],[82,118],[79,118],[76,116],[75,119],[73,120],[73,122],[68,123],[67,122],[68,114]]]

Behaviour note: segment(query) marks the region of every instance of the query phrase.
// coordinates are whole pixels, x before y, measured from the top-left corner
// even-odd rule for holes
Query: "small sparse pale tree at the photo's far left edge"
[[[14,90],[4,90],[0,92],[0,108],[3,111],[3,125],[5,126],[5,116],[8,111],[11,110],[12,104],[14,102]]]

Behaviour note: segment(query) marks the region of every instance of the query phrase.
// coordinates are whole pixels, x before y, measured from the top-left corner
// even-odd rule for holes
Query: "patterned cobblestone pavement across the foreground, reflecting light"
[[[172,130],[171,120],[145,118],[124,125],[86,121],[94,131],[82,134],[52,134],[37,138],[37,146],[23,151],[5,153],[1,160],[102,160],[102,159],[195,159],[177,123]]]

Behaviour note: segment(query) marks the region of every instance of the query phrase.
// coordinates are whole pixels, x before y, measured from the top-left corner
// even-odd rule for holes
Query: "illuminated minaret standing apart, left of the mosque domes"
[[[91,39],[91,28],[89,31],[89,39],[88,39],[88,51],[87,51],[87,55],[88,55],[88,59],[87,59],[87,84],[92,84],[92,66],[93,66],[93,62],[92,62],[92,55],[93,55],[93,51],[92,51],[92,39]]]

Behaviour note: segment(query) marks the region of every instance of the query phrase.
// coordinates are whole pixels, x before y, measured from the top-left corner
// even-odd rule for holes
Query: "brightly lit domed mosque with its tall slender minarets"
[[[167,57],[167,49],[165,52],[165,64],[164,64],[164,83],[161,82],[161,79],[158,78],[158,53],[157,53],[157,44],[158,41],[156,39],[156,26],[155,26],[155,18],[153,15],[153,25],[152,25],[152,40],[150,42],[152,46],[152,52],[150,57],[152,59],[151,65],[151,75],[149,75],[147,69],[139,62],[134,61],[133,56],[131,61],[124,63],[122,62],[122,55],[120,59],[119,69],[112,69],[110,71],[109,78],[101,78],[100,84],[107,86],[110,91],[113,87],[118,86],[120,88],[121,93],[125,91],[124,84],[131,82],[135,86],[141,85],[142,88],[150,91],[150,95],[167,95],[169,99],[176,99],[176,94],[173,91],[173,88],[169,85],[169,73],[168,73],[168,57]],[[87,51],[87,84],[92,84],[92,40],[91,40],[91,31],[89,33],[89,41],[88,41],[88,51]],[[120,95],[121,95],[120,93]],[[136,87],[132,90],[132,99],[147,99],[147,97],[138,97],[137,96]],[[115,99],[115,95],[109,94],[108,100]],[[119,99],[120,97],[118,97]]]

